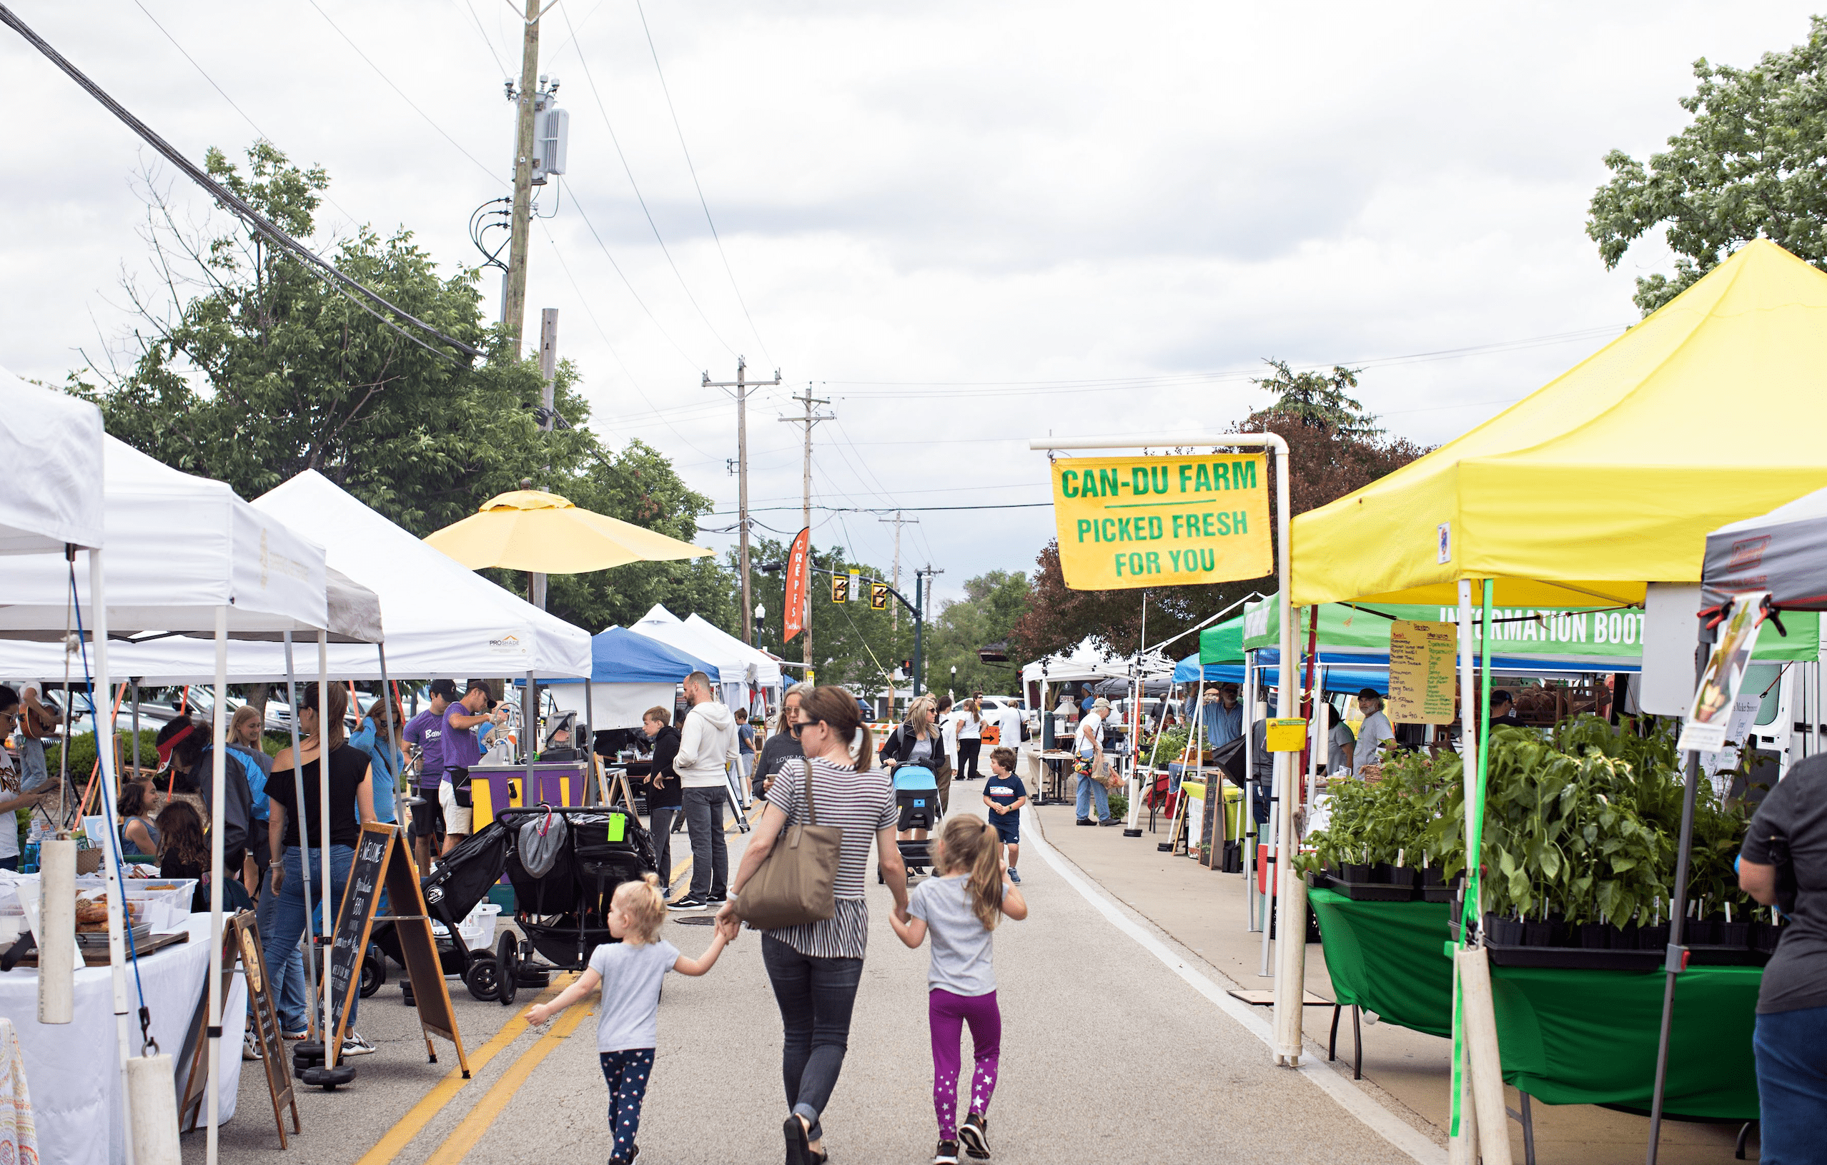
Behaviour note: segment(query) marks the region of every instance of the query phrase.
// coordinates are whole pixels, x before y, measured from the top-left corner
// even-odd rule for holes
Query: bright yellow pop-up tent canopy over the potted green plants
[[[1706,533],[1827,486],[1827,274],[1776,243],[1526,400],[1294,519],[1295,604],[1641,603],[1697,582]]]

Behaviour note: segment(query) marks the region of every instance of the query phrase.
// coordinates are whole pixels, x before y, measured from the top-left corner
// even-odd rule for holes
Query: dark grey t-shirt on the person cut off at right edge
[[[1787,891],[1785,842],[1796,902],[1783,940],[1763,968],[1759,1015],[1827,1006],[1827,754],[1800,761],[1776,782],[1745,831],[1743,858],[1778,866],[1779,893]]]

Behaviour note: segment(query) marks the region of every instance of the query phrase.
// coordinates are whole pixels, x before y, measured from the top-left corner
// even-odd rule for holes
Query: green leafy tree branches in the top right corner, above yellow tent
[[[1668,225],[1675,278],[1637,279],[1644,314],[1756,237],[1827,268],[1827,18],[1811,20],[1805,44],[1765,53],[1748,69],[1703,57],[1694,77],[1699,84],[1681,99],[1692,122],[1648,164],[1608,153],[1611,179],[1593,194],[1586,221],[1606,268]]]

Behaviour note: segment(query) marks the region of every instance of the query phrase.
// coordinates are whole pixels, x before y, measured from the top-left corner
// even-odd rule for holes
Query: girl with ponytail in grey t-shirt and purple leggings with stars
[[[1027,900],[1009,882],[996,829],[977,816],[956,816],[939,834],[934,869],[939,876],[914,887],[904,911],[890,922],[908,946],[932,933],[932,968],[926,971],[926,1019],[932,1024],[932,1108],[939,1118],[939,1149],[934,1165],[957,1165],[957,1145],[974,1158],[990,1156],[985,1110],[996,1090],[996,1066],[1003,1043],[1003,1015],[996,1008],[992,935],[1003,915],[1027,918]],[[976,1066],[970,1074],[970,1107],[957,1121],[959,1037],[970,1026]]]

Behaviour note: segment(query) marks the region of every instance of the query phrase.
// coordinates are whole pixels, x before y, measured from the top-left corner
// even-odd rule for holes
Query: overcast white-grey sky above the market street
[[[906,506],[903,566],[945,568],[941,595],[1032,568],[1052,519],[1030,436],[1222,427],[1275,356],[1367,365],[1361,400],[1438,444],[1600,347],[1633,278],[1670,268],[1659,237],[1617,272],[1586,239],[1606,150],[1659,148],[1694,58],[1750,64],[1809,13],[645,2],[722,256],[636,2],[559,0],[541,69],[570,166],[541,195],[528,332],[559,309],[597,433],[669,453],[716,499],[707,526],[734,520],[736,436],[700,374],[780,369],[751,400],[749,493],[787,533],[798,425],[775,416],[811,382],[837,413],[813,500]],[[470,212],[512,177],[508,0],[11,5],[186,155],[263,133],[325,166],[322,237],[404,225],[479,259]],[[5,29],[0,102],[0,365],[60,382],[132,331],[152,155]],[[914,513],[976,504],[1029,508]],[[877,517],[813,522],[886,568]]]

